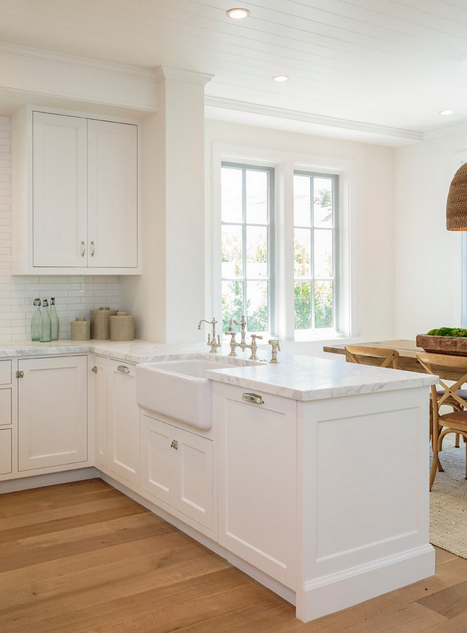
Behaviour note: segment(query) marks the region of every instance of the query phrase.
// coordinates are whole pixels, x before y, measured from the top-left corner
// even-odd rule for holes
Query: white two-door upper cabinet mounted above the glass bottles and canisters
[[[11,120],[13,274],[141,274],[137,125],[30,106]]]

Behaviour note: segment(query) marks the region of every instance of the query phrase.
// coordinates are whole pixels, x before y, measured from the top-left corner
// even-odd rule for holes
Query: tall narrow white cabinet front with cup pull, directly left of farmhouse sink
[[[108,360],[108,468],[121,479],[140,485],[140,409],[136,368]]]

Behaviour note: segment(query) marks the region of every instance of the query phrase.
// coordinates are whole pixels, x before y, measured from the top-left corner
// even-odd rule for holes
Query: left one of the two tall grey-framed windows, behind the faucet
[[[275,331],[274,170],[222,163],[222,328],[246,316],[248,332]]]

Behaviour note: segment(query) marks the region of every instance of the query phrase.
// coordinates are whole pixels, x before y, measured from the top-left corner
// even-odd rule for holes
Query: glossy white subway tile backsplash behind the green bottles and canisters
[[[93,275],[42,275],[13,277],[11,262],[11,154],[10,119],[0,116],[0,339],[30,338],[35,297],[55,297],[60,338],[70,337],[70,321],[89,319],[101,306],[120,308],[120,278]]]

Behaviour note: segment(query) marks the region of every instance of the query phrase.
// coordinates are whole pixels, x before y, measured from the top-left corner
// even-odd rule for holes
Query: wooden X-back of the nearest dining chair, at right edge
[[[448,404],[446,403],[448,399],[456,401],[461,409],[467,409],[467,400],[463,399],[461,394],[459,394],[459,389],[467,382],[467,356],[420,352],[417,354],[417,359],[427,374],[438,377],[442,391],[437,392],[436,385],[432,384],[432,400],[433,402],[437,402],[437,409],[439,409],[442,404]],[[439,369],[448,369],[451,375],[457,377],[456,382],[450,385],[446,384],[437,374],[437,367],[439,367]],[[451,403],[449,404],[451,405]]]

